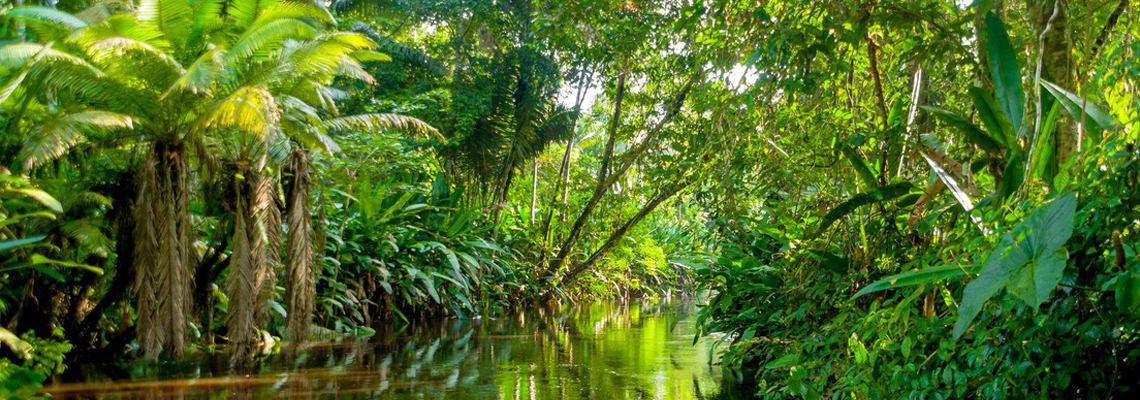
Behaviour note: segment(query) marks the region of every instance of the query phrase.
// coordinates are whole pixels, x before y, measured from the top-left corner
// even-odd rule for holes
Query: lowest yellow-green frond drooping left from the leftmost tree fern
[[[54,160],[75,145],[87,139],[89,129],[131,129],[133,120],[130,116],[105,112],[88,111],[66,114],[44,121],[32,129],[31,137],[19,152],[24,160],[24,169]]]

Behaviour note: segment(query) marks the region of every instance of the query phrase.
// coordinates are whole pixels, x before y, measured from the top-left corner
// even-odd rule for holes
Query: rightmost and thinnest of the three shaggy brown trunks
[[[290,180],[285,186],[285,222],[288,242],[285,245],[285,332],[302,344],[310,337],[312,312],[317,296],[314,277],[312,217],[309,207],[309,158],[303,150],[290,154]]]

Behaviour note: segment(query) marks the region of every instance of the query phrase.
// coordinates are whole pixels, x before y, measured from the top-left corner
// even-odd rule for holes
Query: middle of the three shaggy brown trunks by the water
[[[234,178],[234,250],[226,279],[229,307],[227,334],[234,346],[231,364],[244,367],[261,342],[274,294],[274,267],[279,256],[274,240],[280,237],[279,210],[272,180],[263,169],[239,169]],[[237,178],[238,175],[244,178]]]

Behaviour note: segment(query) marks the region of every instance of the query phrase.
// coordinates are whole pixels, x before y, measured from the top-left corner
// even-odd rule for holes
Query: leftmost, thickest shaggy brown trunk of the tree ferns
[[[133,269],[138,341],[147,357],[170,351],[181,358],[195,259],[185,147],[152,144],[137,180]]]

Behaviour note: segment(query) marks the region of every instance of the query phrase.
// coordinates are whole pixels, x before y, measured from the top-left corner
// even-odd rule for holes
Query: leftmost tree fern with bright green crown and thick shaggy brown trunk
[[[0,66],[25,71],[6,88],[23,87],[26,101],[64,111],[28,138],[25,166],[66,153],[92,126],[133,125],[129,134],[146,144],[133,210],[139,343],[152,357],[163,350],[180,357],[197,258],[189,213],[190,154],[209,164],[210,134],[271,133],[279,112],[269,87],[277,83],[278,68],[295,74],[340,68],[349,52],[369,42],[323,34],[333,18],[307,2],[142,0],[131,13],[90,24],[39,7],[15,8],[5,16],[44,27],[35,30],[40,43],[0,48]],[[299,64],[271,62],[291,43],[318,38],[325,39],[293,46],[293,51],[310,51],[294,57]],[[320,44],[331,42],[339,46]],[[324,95],[310,92],[317,99]]]

